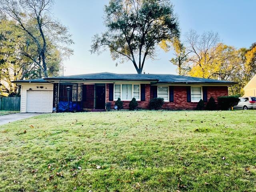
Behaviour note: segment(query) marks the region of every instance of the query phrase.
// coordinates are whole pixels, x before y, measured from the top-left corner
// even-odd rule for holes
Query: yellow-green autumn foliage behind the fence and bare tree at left
[[[19,93],[19,87],[12,81],[23,78],[40,78],[40,66],[33,58],[38,56],[37,46],[30,36],[15,27],[16,22],[0,18],[0,94],[2,96]],[[53,44],[48,44],[46,63],[48,74],[58,76],[63,56]]]

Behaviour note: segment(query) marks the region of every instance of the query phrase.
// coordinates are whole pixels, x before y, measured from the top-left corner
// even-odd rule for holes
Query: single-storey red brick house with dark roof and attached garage
[[[14,81],[21,88],[21,112],[103,111],[118,98],[124,109],[132,98],[138,108],[149,109],[150,99],[164,98],[163,109],[194,109],[200,99],[228,95],[236,82],[172,74],[96,73]]]

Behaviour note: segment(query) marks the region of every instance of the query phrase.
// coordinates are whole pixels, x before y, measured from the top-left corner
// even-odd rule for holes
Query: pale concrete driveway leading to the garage
[[[10,115],[2,115],[0,116],[0,125],[4,125],[10,122],[34,117],[41,115],[42,113],[15,113],[15,114],[10,114]]]

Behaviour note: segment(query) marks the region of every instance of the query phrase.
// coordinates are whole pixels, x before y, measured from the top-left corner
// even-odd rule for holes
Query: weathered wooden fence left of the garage
[[[19,111],[20,97],[0,97],[0,110]]]

